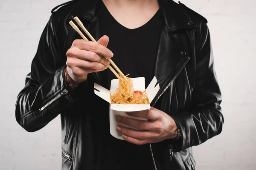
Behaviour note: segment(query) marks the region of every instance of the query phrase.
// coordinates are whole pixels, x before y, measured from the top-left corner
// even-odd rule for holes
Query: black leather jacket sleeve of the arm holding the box
[[[195,55],[195,88],[192,109],[173,115],[180,128],[181,138],[170,140],[174,151],[201,144],[221,133],[224,118],[221,113],[221,91],[214,70],[209,29],[201,26],[198,36],[201,45]]]

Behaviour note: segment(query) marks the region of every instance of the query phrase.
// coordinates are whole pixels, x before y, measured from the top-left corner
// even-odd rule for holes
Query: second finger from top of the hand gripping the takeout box
[[[154,130],[157,132],[161,130],[161,125],[158,125],[158,122],[136,120],[125,116],[116,116],[116,121],[140,130]]]

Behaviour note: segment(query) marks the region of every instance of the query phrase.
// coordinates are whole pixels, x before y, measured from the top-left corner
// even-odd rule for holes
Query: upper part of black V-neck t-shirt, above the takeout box
[[[154,77],[154,66],[160,39],[162,17],[160,10],[143,26],[129,29],[118,23],[104,3],[97,12],[102,34],[109,37],[108,48],[113,52],[113,62],[128,77],[145,77],[145,87]],[[116,76],[108,71],[108,85]]]

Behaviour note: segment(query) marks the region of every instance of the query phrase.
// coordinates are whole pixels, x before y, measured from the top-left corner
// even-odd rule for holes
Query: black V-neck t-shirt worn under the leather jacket
[[[160,10],[145,25],[135,29],[126,28],[118,23],[103,2],[99,5],[97,17],[101,24],[102,35],[109,37],[107,47],[114,54],[113,62],[123,74],[130,74],[128,77],[145,77],[145,87],[147,87],[154,77],[162,27]],[[109,69],[103,72],[107,80],[106,88],[110,89],[111,80],[116,79],[116,76]],[[102,150],[104,152],[102,169],[154,170],[148,144],[131,144],[114,138],[110,133],[105,141],[104,151]]]

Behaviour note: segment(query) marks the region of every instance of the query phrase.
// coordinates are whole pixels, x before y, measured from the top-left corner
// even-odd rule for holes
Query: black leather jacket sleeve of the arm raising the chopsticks
[[[52,14],[41,35],[25,87],[17,96],[16,120],[29,132],[47,125],[76,100],[64,79],[66,53],[61,52],[55,27]]]

